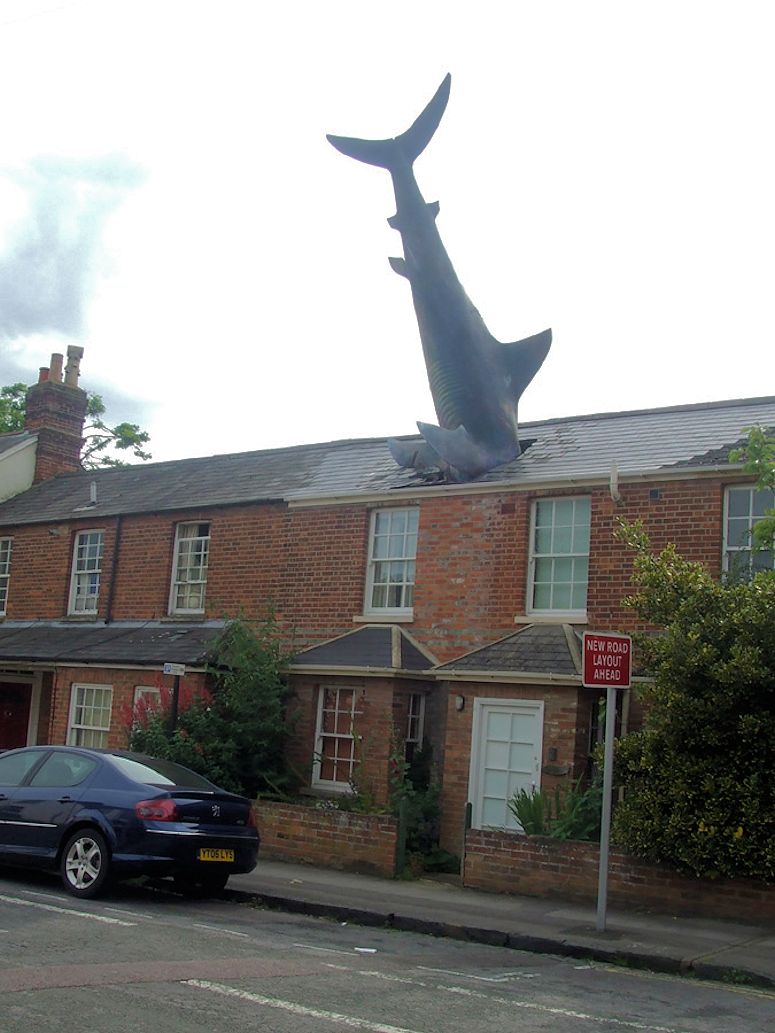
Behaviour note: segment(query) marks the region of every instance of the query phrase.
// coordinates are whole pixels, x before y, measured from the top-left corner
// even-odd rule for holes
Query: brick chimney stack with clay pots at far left
[[[68,347],[63,383],[63,356],[55,352],[27,392],[25,430],[37,435],[35,483],[81,469],[87,404],[86,392],[78,385],[83,354],[83,348]]]

